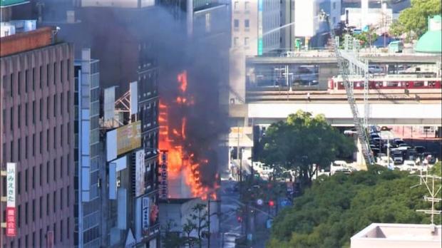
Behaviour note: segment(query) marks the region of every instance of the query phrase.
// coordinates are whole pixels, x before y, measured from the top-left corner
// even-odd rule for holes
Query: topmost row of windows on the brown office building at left
[[[56,76],[60,76],[60,82],[63,83],[64,80],[64,63],[65,61],[60,61],[60,63],[54,62],[53,66],[51,66],[50,63],[46,64],[46,71],[43,71],[44,66],[38,67],[38,76],[39,76],[39,88],[43,88],[43,73],[46,72],[46,86],[49,86],[49,78],[52,78],[52,83],[56,83]],[[67,60],[68,68],[71,66],[71,60]],[[52,67],[52,68],[51,68]],[[24,93],[28,93],[29,88],[32,87],[32,91],[35,91],[36,89],[36,68],[32,69],[26,69],[25,71],[18,71],[17,73],[11,73],[9,76],[3,76],[3,89],[5,91],[9,91],[9,96],[14,96],[15,87],[17,90],[17,94],[21,95],[22,93],[22,81],[24,81]],[[58,71],[58,73],[57,73]],[[68,70],[69,71],[69,70]],[[51,75],[51,77],[49,76]],[[17,81],[19,83],[15,83],[15,77],[17,77]],[[9,88],[6,88],[6,81],[8,81],[9,78]],[[68,76],[69,78],[69,76]],[[29,84],[31,83],[31,86]]]

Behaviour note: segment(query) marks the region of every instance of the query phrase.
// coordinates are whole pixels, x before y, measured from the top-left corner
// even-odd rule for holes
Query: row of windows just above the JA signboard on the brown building
[[[66,130],[65,130],[66,127]],[[57,130],[58,128],[58,130]],[[28,135],[22,138],[18,138],[16,143],[14,140],[11,140],[9,143],[9,147],[6,148],[6,143],[3,143],[3,162],[6,162],[6,150],[9,150],[9,160],[11,162],[21,162],[23,159],[27,160],[29,158],[29,150],[31,150],[32,157],[36,156],[36,150],[38,148],[38,153],[43,154],[43,148],[46,147],[46,152],[50,152],[51,141],[53,144],[53,149],[56,150],[58,148],[63,148],[64,142],[66,140],[66,144],[69,145],[71,143],[71,123],[67,123],[67,125],[59,125],[52,128],[52,132],[50,129],[46,129],[46,145],[43,146],[43,131],[38,133],[38,145],[36,144],[37,138],[36,133],[32,134],[30,138]],[[59,138],[57,142],[57,138]],[[24,149],[23,149],[24,148]],[[14,153],[15,149],[17,149],[17,153]],[[24,155],[23,155],[24,153]]]

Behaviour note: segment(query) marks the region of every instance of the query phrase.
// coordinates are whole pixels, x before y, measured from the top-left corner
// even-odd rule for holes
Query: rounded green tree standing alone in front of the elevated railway
[[[354,142],[327,123],[324,115],[312,117],[299,110],[287,121],[267,128],[262,138],[261,162],[281,169],[296,170],[302,185],[310,185],[316,172],[313,165],[328,167],[336,157],[349,157]]]

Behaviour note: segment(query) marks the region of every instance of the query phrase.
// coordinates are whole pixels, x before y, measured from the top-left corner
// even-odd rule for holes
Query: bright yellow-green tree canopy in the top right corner
[[[404,9],[399,20],[390,26],[390,33],[401,36],[404,33],[410,38],[418,38],[427,30],[428,16],[441,14],[441,0],[411,0],[411,7]]]

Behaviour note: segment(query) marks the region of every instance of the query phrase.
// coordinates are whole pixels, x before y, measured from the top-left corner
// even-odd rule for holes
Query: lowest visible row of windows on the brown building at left
[[[3,247],[8,248],[21,248],[21,247],[46,247],[48,244],[48,239],[51,239],[53,244],[58,242],[63,242],[64,239],[71,239],[71,219],[67,217],[66,219],[61,219],[60,222],[53,222],[52,230],[51,226],[46,226],[46,232],[43,228],[38,230],[38,237],[36,237],[36,232],[32,232],[32,235],[26,234],[24,237],[19,237],[19,239],[12,240],[8,244],[3,244]],[[6,234],[6,229],[4,229],[4,234]],[[66,230],[66,231],[65,231]],[[58,236],[57,236],[58,234]],[[31,240],[29,240],[31,238]],[[38,239],[38,241],[37,241]],[[16,241],[16,242],[14,242]],[[38,242],[38,244],[37,244]]]

